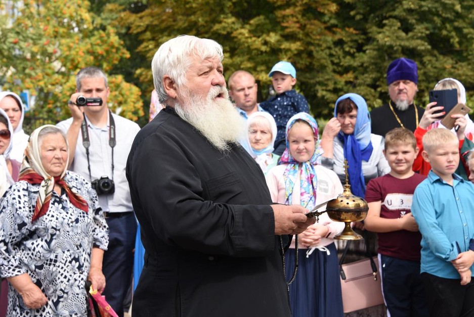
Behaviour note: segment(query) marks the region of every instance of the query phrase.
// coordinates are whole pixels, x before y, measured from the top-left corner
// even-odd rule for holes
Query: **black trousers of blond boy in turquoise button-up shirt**
[[[443,279],[426,272],[421,276],[430,317],[474,316],[474,281],[463,286],[459,279]]]

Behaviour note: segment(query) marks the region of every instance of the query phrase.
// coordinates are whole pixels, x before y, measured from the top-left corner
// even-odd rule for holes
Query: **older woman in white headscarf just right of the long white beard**
[[[257,111],[248,116],[249,153],[264,174],[277,165],[279,155],[273,154],[273,144],[277,137],[277,125],[273,116],[265,111]]]

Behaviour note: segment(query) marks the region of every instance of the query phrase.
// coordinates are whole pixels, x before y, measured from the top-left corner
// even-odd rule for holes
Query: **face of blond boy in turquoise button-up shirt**
[[[456,143],[441,144],[421,154],[441,178],[451,176],[459,165],[459,144]]]

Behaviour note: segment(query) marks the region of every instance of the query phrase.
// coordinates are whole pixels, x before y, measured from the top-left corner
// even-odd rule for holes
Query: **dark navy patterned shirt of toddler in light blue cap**
[[[306,98],[294,89],[261,102],[260,106],[275,118],[278,130],[277,141],[285,139],[286,123],[290,117],[298,112],[309,113],[310,111]]]

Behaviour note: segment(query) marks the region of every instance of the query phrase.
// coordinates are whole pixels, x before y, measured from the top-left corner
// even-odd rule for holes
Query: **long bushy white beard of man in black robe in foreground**
[[[232,148],[246,132],[245,119],[229,100],[225,87],[213,86],[205,98],[181,89],[184,105],[175,104],[176,113],[196,128],[221,152]],[[217,98],[221,95],[223,98]]]

